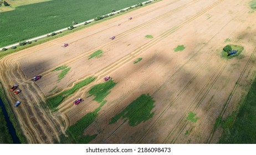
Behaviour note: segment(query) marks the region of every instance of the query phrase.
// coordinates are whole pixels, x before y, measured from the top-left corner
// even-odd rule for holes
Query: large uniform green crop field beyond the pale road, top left
[[[0,47],[69,27],[145,0],[53,0],[0,13]],[[100,9],[99,9],[100,8]]]

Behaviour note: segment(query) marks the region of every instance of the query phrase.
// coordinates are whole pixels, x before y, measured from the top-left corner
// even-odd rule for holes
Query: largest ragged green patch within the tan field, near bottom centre
[[[155,107],[153,105],[154,103],[155,101],[149,94],[142,94],[136,100],[132,101],[122,112],[112,117],[109,124],[115,123],[121,117],[125,121],[128,119],[130,126],[136,126],[142,121],[145,122],[155,114],[155,112],[151,113],[153,107]]]

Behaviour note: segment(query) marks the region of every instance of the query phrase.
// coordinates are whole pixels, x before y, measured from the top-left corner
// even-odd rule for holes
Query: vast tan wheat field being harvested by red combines
[[[13,111],[28,142],[217,143],[217,118],[237,110],[256,70],[249,2],[163,0],[4,57],[0,80],[22,90],[6,95],[22,102]],[[227,44],[242,53],[225,58]]]

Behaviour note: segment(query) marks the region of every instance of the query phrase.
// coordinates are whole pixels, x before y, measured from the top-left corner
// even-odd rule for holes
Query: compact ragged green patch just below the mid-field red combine
[[[94,100],[100,103],[104,100],[104,98],[107,95],[110,94],[111,92],[110,89],[115,85],[116,85],[116,82],[114,82],[113,80],[108,80],[108,81],[105,81],[104,83],[95,85],[91,87],[91,89],[88,91],[88,93],[90,94],[88,97],[95,96]]]

